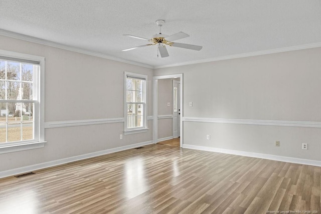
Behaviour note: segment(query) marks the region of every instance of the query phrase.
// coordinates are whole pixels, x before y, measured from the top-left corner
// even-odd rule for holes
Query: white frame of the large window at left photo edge
[[[0,154],[23,151],[45,146],[45,58],[0,50],[0,56],[7,59],[17,59],[20,62],[39,62],[40,69],[34,74],[34,90],[37,97],[34,106],[34,139],[0,143]],[[4,59],[6,60],[6,59]],[[10,60],[8,60],[10,61]],[[2,102],[5,102],[3,100]],[[7,101],[6,101],[7,102]]]

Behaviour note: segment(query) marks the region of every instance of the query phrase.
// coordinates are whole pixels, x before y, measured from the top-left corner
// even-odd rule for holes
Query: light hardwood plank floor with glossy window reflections
[[[321,211],[321,167],[162,144],[35,173],[0,179],[0,213]]]

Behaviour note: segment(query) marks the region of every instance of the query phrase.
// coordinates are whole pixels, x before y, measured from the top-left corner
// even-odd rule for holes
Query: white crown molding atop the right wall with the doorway
[[[321,42],[320,43],[313,43],[313,44],[306,44],[306,45],[291,46],[291,47],[286,47],[286,48],[277,48],[277,49],[265,50],[265,51],[235,54],[235,55],[229,55],[229,56],[223,56],[223,57],[215,57],[215,58],[209,58],[209,59],[203,59],[203,60],[195,60],[195,61],[177,63],[177,64],[166,65],[166,66],[154,66],[153,68],[154,69],[170,68],[170,67],[183,66],[183,65],[192,65],[192,64],[198,64],[198,63],[230,60],[230,59],[237,59],[237,58],[243,58],[243,57],[253,57],[253,56],[266,55],[266,54],[275,54],[275,53],[281,53],[281,52],[287,52],[287,51],[297,51],[297,50],[303,50],[303,49],[309,49],[309,48],[319,48],[319,47],[321,47]]]

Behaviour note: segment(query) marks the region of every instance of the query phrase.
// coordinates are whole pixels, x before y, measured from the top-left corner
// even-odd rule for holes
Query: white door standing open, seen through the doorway
[[[173,80],[173,138],[180,137],[180,81]]]

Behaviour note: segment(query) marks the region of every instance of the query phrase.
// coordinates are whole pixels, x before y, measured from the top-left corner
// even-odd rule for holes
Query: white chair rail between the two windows
[[[87,126],[106,123],[123,123],[124,118],[105,118],[105,119],[89,119],[89,120],[66,120],[66,121],[52,121],[45,122],[45,128],[60,128],[69,126]]]

